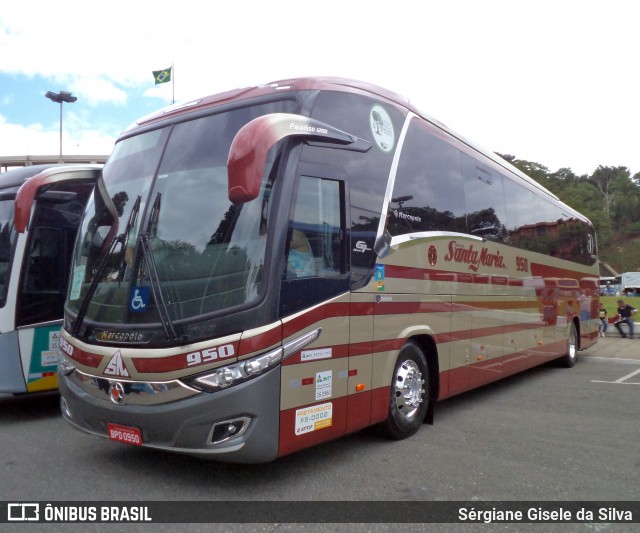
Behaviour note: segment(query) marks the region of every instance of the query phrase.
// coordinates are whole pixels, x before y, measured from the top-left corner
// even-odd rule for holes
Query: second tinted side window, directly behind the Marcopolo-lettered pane
[[[508,242],[502,175],[462,154],[469,233],[490,241]]]

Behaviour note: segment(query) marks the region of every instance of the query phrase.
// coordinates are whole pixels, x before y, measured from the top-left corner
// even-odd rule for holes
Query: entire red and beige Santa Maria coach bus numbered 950
[[[379,87],[169,107],[121,135],[88,204],[62,412],[236,462],[408,437],[438,400],[574,364],[597,337],[595,246],[585,217]]]

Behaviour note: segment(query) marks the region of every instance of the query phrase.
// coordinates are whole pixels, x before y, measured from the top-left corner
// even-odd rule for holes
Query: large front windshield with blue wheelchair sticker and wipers
[[[116,145],[78,234],[67,306],[80,322],[175,323],[260,296],[273,157],[242,205],[228,199],[227,157],[243,125],[292,107],[235,109]]]

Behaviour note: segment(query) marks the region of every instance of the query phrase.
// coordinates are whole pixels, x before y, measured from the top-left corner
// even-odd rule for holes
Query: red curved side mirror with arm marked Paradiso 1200
[[[371,143],[319,120],[291,113],[263,115],[245,124],[229,148],[227,171],[228,194],[233,204],[243,204],[258,197],[267,153],[286,137],[304,137],[320,145],[343,145],[366,152]]]

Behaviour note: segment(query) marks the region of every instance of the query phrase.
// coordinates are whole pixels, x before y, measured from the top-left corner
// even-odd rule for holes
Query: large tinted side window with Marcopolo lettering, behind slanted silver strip
[[[398,165],[387,215],[393,236],[420,231],[466,232],[460,152],[414,119]]]

